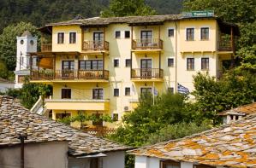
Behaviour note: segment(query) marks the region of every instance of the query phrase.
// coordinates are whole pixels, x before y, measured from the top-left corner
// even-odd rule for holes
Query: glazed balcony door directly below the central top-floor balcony
[[[140,77],[152,78],[152,59],[140,60]]]

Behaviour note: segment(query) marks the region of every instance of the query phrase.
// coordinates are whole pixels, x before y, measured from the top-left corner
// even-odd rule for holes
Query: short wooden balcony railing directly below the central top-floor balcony
[[[132,70],[132,78],[136,79],[151,79],[164,78],[163,69],[159,68],[137,68]]]

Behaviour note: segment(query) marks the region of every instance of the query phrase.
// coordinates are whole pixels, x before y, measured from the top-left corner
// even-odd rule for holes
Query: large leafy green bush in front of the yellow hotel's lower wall
[[[153,105],[152,95],[142,95],[139,107],[133,113],[123,117],[124,124],[111,138],[130,146],[140,147],[154,142],[153,140],[149,141],[150,137],[154,134],[156,134],[155,138],[159,136],[160,133],[157,132],[164,129],[166,125],[193,122],[197,116],[195,116],[196,113],[190,111],[190,103],[187,99],[186,96],[167,93],[156,97]],[[200,122],[202,120],[200,119]],[[187,133],[182,135],[188,136],[193,132]],[[161,136],[164,137],[164,135]],[[165,137],[170,136],[165,135]]]

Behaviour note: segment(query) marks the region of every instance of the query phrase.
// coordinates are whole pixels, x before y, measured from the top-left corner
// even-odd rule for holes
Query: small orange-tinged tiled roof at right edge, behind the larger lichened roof
[[[219,113],[218,115],[242,115],[242,116],[244,116],[244,115],[251,114],[251,113],[256,113],[256,102],[224,111],[223,113]]]

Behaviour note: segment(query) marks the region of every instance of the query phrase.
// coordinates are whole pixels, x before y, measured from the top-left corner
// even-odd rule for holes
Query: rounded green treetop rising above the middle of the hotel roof
[[[105,9],[101,16],[122,17],[152,14],[156,14],[156,11],[146,5],[145,0],[111,0],[109,9]]]

